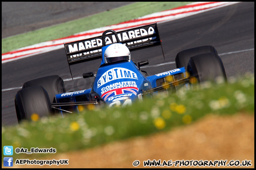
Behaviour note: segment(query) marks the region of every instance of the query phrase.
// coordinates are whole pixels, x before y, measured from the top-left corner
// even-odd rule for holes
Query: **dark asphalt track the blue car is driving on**
[[[228,80],[246,72],[254,73],[254,2],[240,2],[159,23],[158,27],[165,61],[160,46],[131,53],[135,62],[149,61],[148,67],[143,69],[149,75],[175,69],[179,51],[203,45],[217,49]],[[86,72],[96,73],[100,62],[95,60],[71,66],[73,77],[81,77]],[[48,75],[60,75],[64,80],[71,78],[64,46],[60,50],[2,64],[2,89],[21,87],[26,81]],[[74,83],[72,80],[64,83],[66,90],[77,91],[90,88],[92,81],[92,78],[75,79]],[[2,125],[17,124],[14,97],[18,90],[2,91]]]

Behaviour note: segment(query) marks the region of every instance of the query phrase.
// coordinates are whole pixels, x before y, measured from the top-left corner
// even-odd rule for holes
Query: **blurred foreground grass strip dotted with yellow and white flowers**
[[[192,124],[206,114],[254,115],[254,74],[230,78],[229,83],[205,83],[196,92],[180,90],[144,98],[132,106],[80,106],[80,114],[66,114],[16,126],[2,126],[2,148],[55,148],[57,153],[99,146],[111,141],[167,131]],[[15,150],[14,150],[15,152]],[[33,154],[33,157],[47,154]],[[14,159],[30,155],[14,153]],[[4,157],[2,153],[2,158]]]

